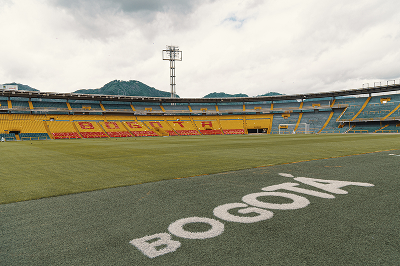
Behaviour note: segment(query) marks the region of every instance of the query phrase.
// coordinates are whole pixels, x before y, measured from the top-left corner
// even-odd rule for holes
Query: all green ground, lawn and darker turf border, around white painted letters
[[[400,155],[400,135],[24,141],[1,143],[0,148],[0,265],[400,262],[400,156],[390,155]],[[351,154],[360,155],[346,156]],[[321,158],[330,159],[314,160]],[[341,188],[347,194],[335,194],[297,177],[373,186],[348,185]],[[154,182],[158,180],[163,181]],[[229,222],[213,213],[217,206],[243,204],[246,195],[288,182],[334,198],[278,190],[309,204],[292,210],[264,208],[273,216],[253,223]],[[139,185],[129,186],[133,184]],[[52,197],[58,195],[64,196]],[[42,199],[25,201],[37,198]],[[292,202],[272,196],[258,200]],[[229,214],[257,216],[237,211]],[[168,230],[191,217],[219,221],[223,231],[188,239]],[[211,226],[191,223],[182,229],[201,233]],[[169,234],[180,247],[150,259],[129,244],[159,233]]]

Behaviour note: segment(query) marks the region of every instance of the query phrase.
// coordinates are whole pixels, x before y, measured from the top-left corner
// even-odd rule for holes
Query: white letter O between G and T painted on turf
[[[283,197],[283,198],[288,198],[291,199],[293,202],[292,203],[282,203],[282,204],[276,204],[276,203],[267,203],[267,202],[262,202],[258,201],[258,197],[262,196],[276,196],[276,197]],[[242,199],[245,203],[259,207],[259,208],[264,208],[264,209],[273,209],[273,210],[295,210],[295,209],[301,209],[304,208],[309,204],[309,201],[301,196],[290,194],[290,193],[283,193],[283,192],[259,192],[259,193],[252,193],[244,196]]]

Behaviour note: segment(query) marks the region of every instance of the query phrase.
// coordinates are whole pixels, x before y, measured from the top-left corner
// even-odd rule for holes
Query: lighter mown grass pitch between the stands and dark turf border
[[[0,203],[400,148],[400,135],[245,135],[1,143]]]

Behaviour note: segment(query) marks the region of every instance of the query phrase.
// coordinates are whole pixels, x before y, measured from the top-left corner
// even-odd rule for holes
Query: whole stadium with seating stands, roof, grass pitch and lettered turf
[[[0,265],[398,265],[398,91],[0,90]]]

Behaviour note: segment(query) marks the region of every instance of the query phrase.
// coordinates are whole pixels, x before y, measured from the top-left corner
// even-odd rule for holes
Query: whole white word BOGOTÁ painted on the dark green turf
[[[290,174],[279,174],[279,175],[283,177],[293,178],[293,176]],[[307,177],[296,177],[293,178],[293,180],[333,194],[347,194],[348,193],[347,191],[342,190],[340,188],[349,185],[361,186],[361,187],[373,187],[373,185],[369,183],[324,180],[324,179],[307,178]],[[215,217],[227,222],[248,224],[272,218],[273,213],[265,209],[295,210],[304,208],[310,203],[306,198],[302,196],[298,196],[292,193],[274,192],[276,190],[292,191],[323,199],[334,199],[334,196],[331,194],[298,188],[297,187],[298,185],[300,184],[282,183],[279,185],[273,185],[262,188],[261,190],[266,192],[258,192],[245,195],[242,198],[242,201],[244,203],[227,203],[220,205],[214,208],[213,214]],[[283,197],[283,198],[288,198],[293,202],[276,204],[276,203],[267,203],[257,200],[258,197],[263,197],[263,196]],[[249,205],[255,207],[249,207]],[[242,208],[237,210],[237,213],[239,214],[256,213],[258,215],[252,217],[245,217],[245,216],[233,215],[228,212],[229,210],[236,208]],[[190,223],[205,223],[210,225],[211,228],[205,232],[189,232],[184,230],[183,226]],[[220,234],[222,234],[223,230],[224,230],[223,223],[215,219],[206,217],[189,217],[189,218],[179,219],[171,223],[168,226],[168,231],[170,234],[159,233],[151,236],[145,236],[142,238],[134,239],[129,243],[135,246],[138,250],[140,250],[145,256],[152,259],[160,255],[174,252],[180,247],[179,241],[171,239],[172,235],[184,239],[207,239],[219,236]]]

